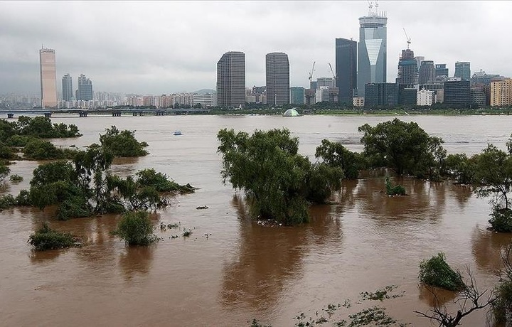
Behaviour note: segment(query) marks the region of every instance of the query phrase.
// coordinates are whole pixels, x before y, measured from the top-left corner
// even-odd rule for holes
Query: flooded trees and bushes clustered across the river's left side
[[[9,160],[53,160],[33,171],[30,189],[16,196],[1,195],[0,209],[13,206],[54,207],[55,218],[91,217],[105,213],[124,214],[114,231],[127,245],[147,245],[156,240],[148,210],[164,208],[175,194],[193,193],[195,188],[179,185],[164,173],[152,168],[134,176],[119,177],[110,173],[114,157],[145,156],[146,142],[135,139],[132,131],[119,131],[112,126],[100,135],[100,144],[84,151],[60,149],[44,139],[81,136],[75,125],[51,124],[48,117],[19,117],[17,122],[0,120],[0,178],[9,172]],[[15,154],[23,151],[23,157]],[[57,160],[55,160],[57,159]],[[66,159],[66,160],[62,160]],[[11,176],[11,181],[21,181]],[[28,240],[36,250],[54,250],[75,245],[76,239],[43,223]]]

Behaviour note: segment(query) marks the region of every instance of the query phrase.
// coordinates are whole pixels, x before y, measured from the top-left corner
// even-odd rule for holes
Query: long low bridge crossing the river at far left
[[[210,109],[201,108],[176,108],[176,109],[151,109],[151,108],[108,108],[108,109],[0,109],[0,115],[6,114],[7,118],[14,118],[23,114],[36,114],[51,117],[52,114],[78,114],[79,117],[87,117],[88,114],[112,115],[112,117],[131,116],[166,116],[168,114],[208,114]]]

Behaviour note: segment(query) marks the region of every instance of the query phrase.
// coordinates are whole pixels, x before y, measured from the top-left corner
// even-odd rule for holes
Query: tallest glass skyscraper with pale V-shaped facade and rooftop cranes
[[[372,11],[359,18],[358,95],[364,97],[368,83],[386,82],[387,28],[385,13]]]

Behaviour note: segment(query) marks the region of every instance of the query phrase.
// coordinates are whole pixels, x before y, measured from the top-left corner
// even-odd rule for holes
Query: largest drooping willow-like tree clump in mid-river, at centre
[[[341,185],[341,168],[311,164],[297,154],[299,141],[287,129],[257,130],[252,136],[221,129],[217,138],[224,183],[229,179],[233,188],[245,191],[253,218],[305,223],[309,202],[326,200],[324,196]]]

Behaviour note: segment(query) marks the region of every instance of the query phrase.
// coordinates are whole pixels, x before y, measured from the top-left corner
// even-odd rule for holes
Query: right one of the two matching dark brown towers
[[[282,52],[265,56],[267,104],[281,105],[289,102],[289,61]]]

